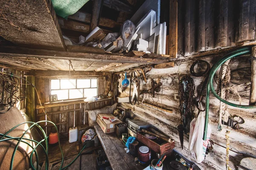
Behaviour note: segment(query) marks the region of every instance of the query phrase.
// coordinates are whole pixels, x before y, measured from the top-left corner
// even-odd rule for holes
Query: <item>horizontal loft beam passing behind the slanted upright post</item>
[[[90,23],[91,14],[88,14],[83,11],[77,11],[75,14],[68,16],[68,18],[77,20],[77,21],[81,21],[84,23]],[[104,27],[108,27],[108,28],[119,28],[121,26],[121,24],[117,23],[114,20],[100,17],[99,26],[104,26]]]

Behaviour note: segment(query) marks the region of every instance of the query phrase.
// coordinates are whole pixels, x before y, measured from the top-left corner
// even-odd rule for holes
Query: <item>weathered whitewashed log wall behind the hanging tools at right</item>
[[[210,63],[212,66],[215,64],[218,59],[220,59],[223,54],[215,54],[214,56],[208,57],[198,57],[194,59],[184,59],[178,60],[175,62],[175,66],[173,68],[166,69],[155,69],[152,68],[150,72],[146,74],[148,79],[147,83],[140,80],[140,91],[151,88],[151,78],[155,81],[161,81],[163,83],[163,94],[162,91],[155,94],[155,97],[152,98],[152,95],[144,94],[145,100],[149,104],[153,104],[155,106],[158,105],[158,110],[160,110],[161,106],[163,108],[169,108],[173,110],[173,113],[169,112],[161,112],[157,111],[157,109],[144,106],[144,105],[130,105],[129,103],[122,103],[124,108],[130,108],[131,111],[139,116],[141,119],[146,122],[151,123],[166,135],[175,139],[175,150],[183,154],[186,158],[195,161],[189,155],[188,151],[188,141],[189,136],[184,137],[184,149],[181,150],[179,136],[177,132],[177,125],[180,124],[180,111],[178,110],[179,100],[175,99],[175,94],[178,93],[178,82],[179,79],[183,77],[185,74],[189,74],[189,68],[192,63],[197,59],[203,59]],[[231,60],[230,68],[234,70],[236,68],[244,68],[250,67],[249,56],[247,57],[239,57],[238,59]],[[240,71],[232,72],[231,74],[232,81],[238,84],[249,82],[250,81],[250,68]],[[199,93],[201,91],[201,87],[204,81],[203,77],[192,77],[195,81],[195,97],[196,100],[199,98]],[[215,85],[216,87],[216,85]],[[132,89],[133,91],[133,89]],[[120,95],[119,96],[129,96],[129,87],[125,89],[122,93],[119,88]],[[205,92],[204,92],[205,94]],[[245,91],[240,93],[240,95],[249,96],[250,91]],[[239,103],[236,97],[232,97],[230,95],[232,101],[234,100],[236,103]],[[140,101],[142,100],[142,95],[140,96]],[[205,102],[205,96],[203,98]],[[249,100],[247,98],[242,97],[242,104],[248,105]],[[232,128],[227,128],[223,126],[223,130],[220,132],[217,130],[218,125],[218,110],[219,110],[220,102],[214,96],[210,96],[210,110],[209,110],[209,125],[212,128],[211,139],[214,144],[214,153],[209,153],[206,156],[206,159],[198,164],[204,170],[223,170],[225,169],[225,156],[226,156],[226,140],[225,140],[225,131],[226,129],[230,130],[230,166],[233,169],[237,169],[239,166],[239,162],[241,161],[246,154],[256,155],[256,116],[255,110],[250,109],[238,109],[229,107],[229,112],[232,115],[239,115],[244,118],[245,123],[242,124],[240,130],[233,130]],[[156,107],[157,108],[157,107]],[[195,115],[198,113],[195,108]],[[244,156],[242,155],[244,154]]]

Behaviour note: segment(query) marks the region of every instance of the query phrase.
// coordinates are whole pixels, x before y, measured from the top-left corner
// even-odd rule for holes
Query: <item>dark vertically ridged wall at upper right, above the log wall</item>
[[[255,0],[177,2],[178,57],[216,48],[233,47],[256,38]]]

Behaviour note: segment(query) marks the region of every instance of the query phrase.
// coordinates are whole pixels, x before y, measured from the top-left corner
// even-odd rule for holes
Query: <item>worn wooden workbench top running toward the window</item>
[[[134,161],[134,156],[125,152],[125,145],[115,133],[105,134],[99,125],[94,125],[94,128],[113,170],[143,170],[145,168]]]

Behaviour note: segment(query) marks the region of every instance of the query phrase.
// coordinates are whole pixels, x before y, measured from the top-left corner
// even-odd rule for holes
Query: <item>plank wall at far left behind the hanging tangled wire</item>
[[[24,79],[26,79],[26,77],[24,77],[24,71],[18,71],[18,70],[15,70],[15,69],[12,69],[12,68],[2,68],[2,67],[0,67],[0,70],[4,70],[4,71],[8,71],[8,72],[10,72],[10,73],[13,73],[13,74],[15,74],[15,75],[17,75],[17,76],[20,76],[20,77],[23,77]],[[3,80],[2,79],[0,79],[0,89],[2,89],[2,84],[3,84]],[[19,85],[18,85],[18,87],[22,87],[21,88],[21,90],[23,91],[23,93],[25,93],[25,88],[26,88],[26,82],[25,82],[25,80],[21,80],[21,79],[19,79]],[[20,94],[21,94],[21,91],[20,90],[18,90],[18,92],[17,92],[17,96],[20,96]],[[1,96],[1,95],[0,95]],[[5,101],[5,103],[7,103],[7,101]],[[23,100],[23,101],[20,101],[20,102],[18,102],[17,104],[15,104],[15,107],[17,107],[20,111],[23,109],[23,113],[25,113],[26,112],[26,109],[25,109],[25,100]]]

